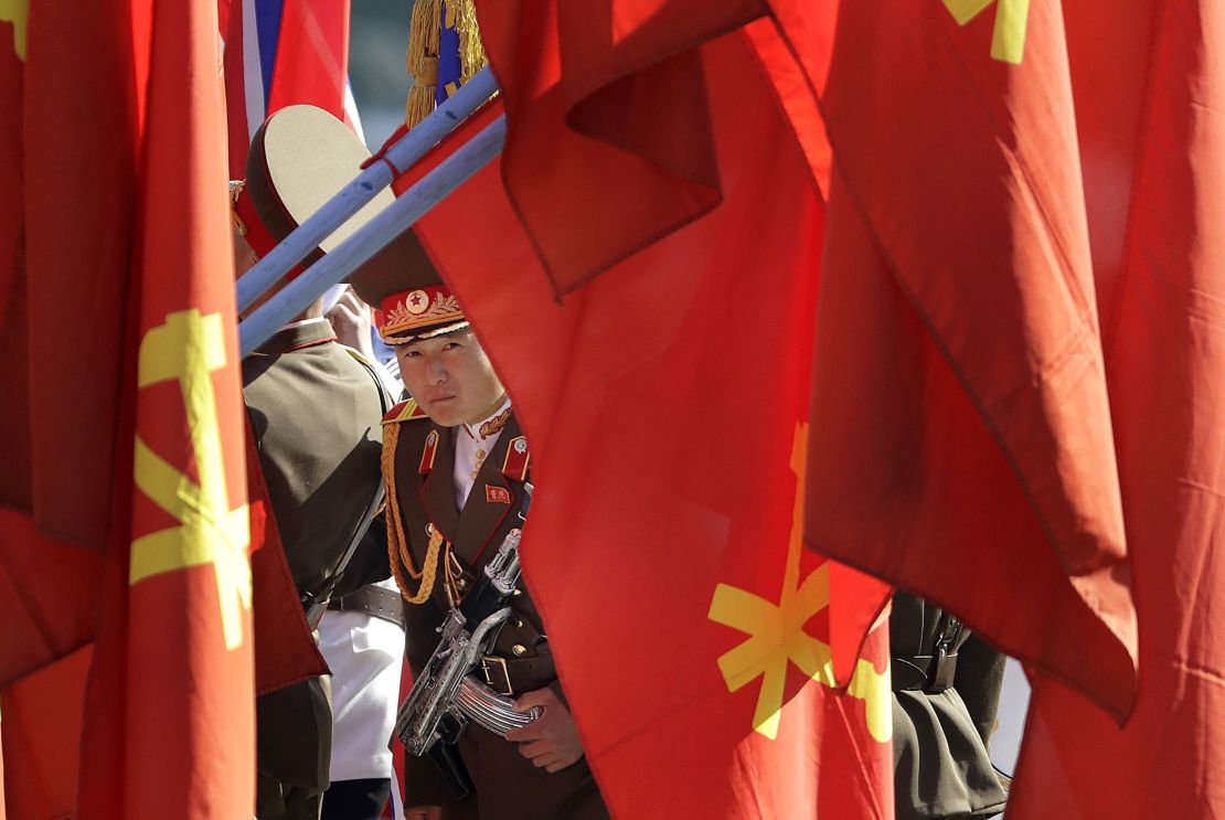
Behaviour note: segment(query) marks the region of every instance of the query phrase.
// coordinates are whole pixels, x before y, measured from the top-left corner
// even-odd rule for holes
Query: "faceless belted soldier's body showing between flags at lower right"
[[[949,613],[898,592],[889,620],[898,820],[991,818],[1007,792],[987,742],[1005,657]]]

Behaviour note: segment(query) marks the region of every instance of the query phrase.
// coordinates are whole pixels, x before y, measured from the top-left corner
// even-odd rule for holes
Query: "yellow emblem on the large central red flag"
[[[729,691],[737,691],[762,679],[753,712],[753,729],[771,740],[778,737],[788,666],[794,663],[812,680],[834,686],[833,658],[828,643],[804,631],[804,624],[829,606],[829,565],[822,564],[800,582],[800,552],[804,541],[804,479],[809,452],[809,428],[796,430],[791,469],[799,479],[791,514],[791,537],[783,593],[778,603],[747,590],[720,583],[714,590],[707,617],[748,635],[739,646],[719,657],[719,670]],[[884,743],[893,735],[892,696],[888,669],[878,673],[871,663],[855,664],[846,694],[864,701],[867,731]]]

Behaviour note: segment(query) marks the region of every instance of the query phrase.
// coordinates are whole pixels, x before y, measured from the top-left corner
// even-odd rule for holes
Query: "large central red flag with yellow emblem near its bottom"
[[[519,118],[524,132],[562,139],[567,74],[559,71],[571,64],[554,49],[560,42],[570,43],[562,53],[589,51],[600,39],[579,27],[600,15],[567,17],[577,6],[557,5],[522,25],[494,4],[480,11],[512,127]],[[582,158],[586,137],[568,135],[560,162],[573,188],[559,189],[552,211],[523,188],[532,174],[519,175],[543,168],[552,143],[512,140],[505,163],[437,206],[419,233],[505,376],[532,442],[538,490],[524,577],[614,814],[889,816],[884,636],[875,631],[869,659],[855,661],[862,617],[846,629],[835,610],[875,614],[881,590],[845,601],[845,570],[802,549],[823,217],[775,92],[779,75],[802,77],[785,48],[769,54],[786,60],[764,64],[762,43],[778,42],[769,21],[697,48],[702,34],[692,27],[677,31],[693,39],[669,43],[664,33],[676,21],[665,15],[655,22],[669,26],[653,29],[648,18],[635,22],[641,31],[619,31],[619,42],[659,48],[637,55],[636,66],[654,66],[647,77],[664,72],[660,54],[690,51],[668,80],[688,103],[673,112],[680,121],[663,140],[690,145],[690,161],[709,161],[717,208],[559,304],[533,240],[555,281],[570,287],[590,266],[625,256],[633,235],[606,226],[606,243],[579,248],[555,233],[560,211],[590,206],[583,218],[601,208],[631,213],[635,203],[650,210],[639,197],[652,180],[670,184],[659,170],[628,170],[644,163],[628,154],[615,159],[624,184],[610,179]],[[532,58],[516,63],[519,55]],[[579,75],[587,69],[579,65]],[[635,139],[644,140],[635,147],[649,145],[637,119],[646,112],[616,108],[635,94],[587,85],[595,87],[582,98],[586,121],[633,123]],[[658,126],[670,127],[668,118]],[[514,165],[512,150],[534,153]],[[610,152],[601,146],[588,158]],[[605,188],[584,188],[589,180]],[[692,180],[671,190],[680,195],[662,197],[668,218],[657,229],[696,216],[681,206],[707,207]],[[854,662],[843,670],[854,678],[845,695],[833,691],[835,655]]]

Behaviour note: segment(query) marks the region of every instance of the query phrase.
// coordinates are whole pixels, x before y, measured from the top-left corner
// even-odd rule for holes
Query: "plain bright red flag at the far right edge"
[[[1035,683],[1008,816],[1225,816],[1225,4],[1065,13],[1140,675],[1122,728]]]

